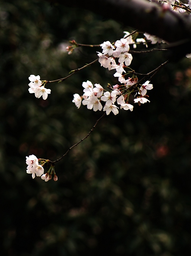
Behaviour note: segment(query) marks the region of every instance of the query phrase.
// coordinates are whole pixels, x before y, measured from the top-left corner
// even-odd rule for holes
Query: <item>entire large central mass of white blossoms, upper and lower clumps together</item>
[[[129,96],[131,94],[135,94],[136,98],[134,99],[134,103],[138,103],[139,105],[145,102],[150,102],[146,95],[147,90],[151,90],[153,88],[152,84],[149,84],[150,81],[146,81],[144,84],[138,84],[137,76],[132,76],[131,78],[126,79],[125,68],[129,68],[131,61],[133,59],[132,55],[128,53],[129,44],[135,45],[135,41],[132,36],[129,36],[129,32],[124,31],[126,38],[121,38],[117,40],[115,43],[110,43],[110,41],[106,41],[102,43],[100,46],[102,47],[102,53],[97,52],[99,56],[99,63],[104,68],[116,69],[115,77],[118,77],[118,81],[121,83],[113,86],[111,92],[106,91],[100,84],[93,84],[91,81],[83,82],[82,86],[84,88],[83,96],[79,94],[74,94],[73,102],[76,107],[83,105],[87,105],[87,109],[93,109],[94,111],[106,111],[106,114],[110,114],[113,112],[114,115],[118,114],[118,109],[115,105],[117,102],[120,105],[120,109],[133,111],[133,105],[129,104]],[[151,40],[151,39],[150,39]],[[146,43],[146,40],[143,38],[139,38],[141,43]],[[116,63],[116,60],[118,62]],[[131,69],[131,68],[129,68]],[[131,71],[133,71],[131,69]],[[129,71],[129,72],[131,72]],[[134,71],[133,71],[134,72]],[[105,102],[105,105],[102,106],[101,102]]]

